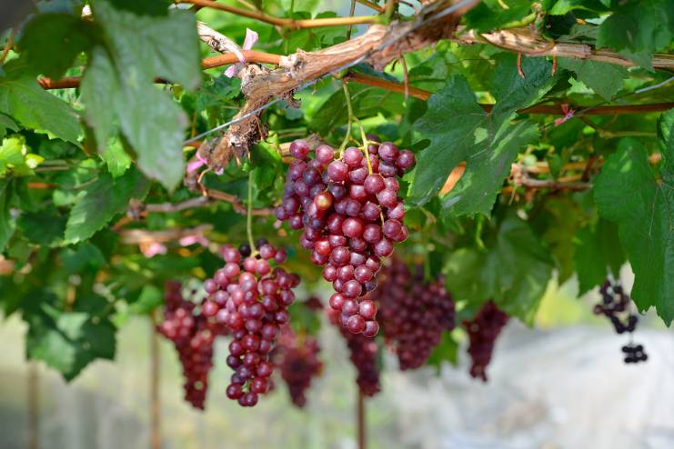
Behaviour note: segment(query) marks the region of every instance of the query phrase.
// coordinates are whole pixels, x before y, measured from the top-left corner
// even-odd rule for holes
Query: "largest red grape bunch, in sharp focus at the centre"
[[[309,160],[304,140],[290,145],[295,160],[277,218],[292,229],[304,228],[300,244],[311,250],[314,264],[324,266],[323,277],[336,291],[329,304],[341,313],[341,324],[372,337],[377,310],[363,295],[377,286],[380,258],[407,239],[397,176],[415,164],[415,156],[390,142],[370,142],[367,152],[348,147],[343,155],[320,145],[314,153]]]

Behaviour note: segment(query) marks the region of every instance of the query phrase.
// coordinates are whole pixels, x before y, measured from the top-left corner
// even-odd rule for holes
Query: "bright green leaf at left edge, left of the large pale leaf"
[[[26,128],[77,144],[81,128],[75,110],[46,92],[31,75],[0,76],[0,113]]]

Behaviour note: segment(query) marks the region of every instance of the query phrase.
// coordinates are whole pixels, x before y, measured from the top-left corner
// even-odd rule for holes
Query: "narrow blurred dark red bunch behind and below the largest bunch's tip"
[[[379,348],[374,338],[367,337],[364,334],[353,334],[349,332],[342,324],[339,311],[328,307],[327,317],[332,324],[335,324],[347,341],[349,359],[356,368],[356,384],[361,394],[374,396],[381,391],[379,384],[379,366],[377,364],[377,354]]]

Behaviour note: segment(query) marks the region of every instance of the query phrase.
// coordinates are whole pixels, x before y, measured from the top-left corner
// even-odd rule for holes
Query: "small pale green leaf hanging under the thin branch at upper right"
[[[605,100],[613,98],[613,95],[616,95],[622,87],[622,80],[629,78],[629,72],[625,67],[600,61],[560,57],[558,65],[560,68],[574,72],[578,81],[587,85]]]

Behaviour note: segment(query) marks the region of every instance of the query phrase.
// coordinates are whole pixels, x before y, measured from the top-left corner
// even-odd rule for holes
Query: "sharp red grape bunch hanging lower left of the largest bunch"
[[[297,274],[273,266],[286,261],[284,250],[266,239],[258,240],[257,247],[259,251],[252,254],[248,244],[238,250],[226,245],[225,266],[204,282],[208,294],[204,314],[226,324],[234,337],[226,360],[234,374],[226,395],[243,406],[257,404],[259,394],[269,389],[274,372],[269,353],[277,343],[279,327],[290,319],[287,307],[295,301],[292,289],[299,284]]]

